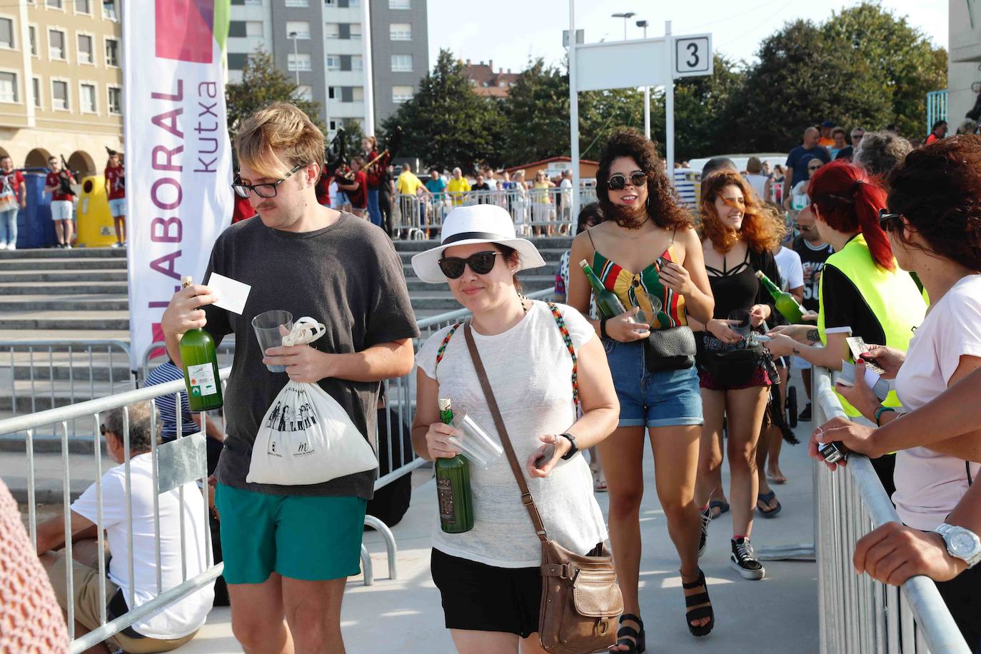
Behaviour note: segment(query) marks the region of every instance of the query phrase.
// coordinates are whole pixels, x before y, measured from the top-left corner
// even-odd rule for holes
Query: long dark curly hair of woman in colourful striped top
[[[691,212],[682,205],[681,198],[664,174],[664,164],[657,156],[654,144],[634,129],[621,129],[609,137],[599,155],[596,171],[596,200],[606,220],[616,221],[619,226],[637,226],[636,219],[627,216],[623,207],[613,204],[609,198],[610,166],[619,157],[629,157],[637,162],[638,170],[647,176],[646,214],[654,225],[662,229],[685,229],[695,226]]]

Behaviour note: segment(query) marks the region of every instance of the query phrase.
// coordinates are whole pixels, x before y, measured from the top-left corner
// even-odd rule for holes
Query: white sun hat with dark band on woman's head
[[[427,283],[442,283],[446,281],[439,270],[443,250],[450,245],[472,243],[497,243],[514,248],[518,251],[519,271],[545,265],[532,241],[515,236],[514,222],[507,210],[492,204],[475,204],[449,212],[442,222],[439,245],[412,257],[412,270]]]

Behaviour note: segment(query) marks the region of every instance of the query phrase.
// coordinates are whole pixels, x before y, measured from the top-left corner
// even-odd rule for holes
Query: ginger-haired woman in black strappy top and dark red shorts
[[[779,383],[780,377],[769,354],[733,327],[741,323],[758,327],[777,319],[773,300],[755,274],[762,272],[780,285],[771,251],[780,243],[784,226],[738,173],[716,173],[702,183],[701,193],[699,236],[715,307],[710,319],[692,321],[705,414],[695,489],[702,522],[699,554],[704,552],[711,521],[709,501],[720,478],[725,418],[733,513],[730,565],[744,579],[763,579],[765,570],[750,542],[753,511],[761,499],[755,452],[769,386]],[[733,361],[735,357],[740,359]]]

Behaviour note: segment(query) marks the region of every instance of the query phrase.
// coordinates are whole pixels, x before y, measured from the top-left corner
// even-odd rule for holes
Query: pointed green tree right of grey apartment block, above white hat
[[[439,169],[499,166],[503,117],[498,102],[471,90],[463,64],[440,50],[419,90],[387,118],[382,131],[402,127],[399,157],[418,157]]]

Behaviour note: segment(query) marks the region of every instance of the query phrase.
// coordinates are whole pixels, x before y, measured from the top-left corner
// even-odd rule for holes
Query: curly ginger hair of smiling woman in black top
[[[716,250],[729,252],[742,238],[750,250],[763,252],[772,250],[783,239],[787,227],[780,215],[756,197],[742,175],[735,171],[718,171],[701,183],[701,222],[698,224],[698,235],[712,241],[712,247]],[[738,186],[746,199],[743,226],[739,231],[724,226],[715,211],[715,200],[726,186]]]

